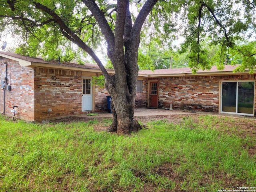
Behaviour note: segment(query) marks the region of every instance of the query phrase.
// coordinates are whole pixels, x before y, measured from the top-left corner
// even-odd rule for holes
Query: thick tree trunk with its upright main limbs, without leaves
[[[118,0],[116,8],[116,26],[114,36],[104,16],[96,9],[92,1],[84,0],[92,11],[96,20],[102,26],[102,33],[108,42],[107,54],[112,62],[115,74],[104,74],[106,90],[112,98],[113,122],[109,131],[118,134],[137,132],[141,126],[134,118],[134,104],[138,82],[138,47],[140,31],[150,10],[157,0],[147,0],[140,11],[138,18],[132,25],[130,14],[130,0]],[[97,19],[98,18],[98,19]],[[99,65],[101,66],[101,65]],[[104,71],[102,71],[104,72]]]

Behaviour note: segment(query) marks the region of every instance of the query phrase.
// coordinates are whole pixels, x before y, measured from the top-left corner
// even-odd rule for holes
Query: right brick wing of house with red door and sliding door
[[[190,68],[144,70],[146,106],[254,116],[256,72],[236,72],[236,66],[209,71]]]

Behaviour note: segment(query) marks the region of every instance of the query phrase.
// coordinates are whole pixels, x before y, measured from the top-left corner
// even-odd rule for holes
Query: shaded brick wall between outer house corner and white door
[[[35,120],[82,114],[81,84],[82,72],[35,68]]]

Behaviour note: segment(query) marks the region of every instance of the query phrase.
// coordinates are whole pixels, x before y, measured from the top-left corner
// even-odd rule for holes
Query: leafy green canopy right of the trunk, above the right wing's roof
[[[168,68],[173,54],[172,67],[177,66],[178,59],[183,66],[188,64],[194,73],[198,69],[209,70],[213,65],[222,70],[224,64],[240,64],[236,71],[247,68],[251,74],[254,72],[255,1],[183,0],[176,1],[176,8],[171,15],[164,14],[163,8],[163,15],[155,16],[155,22],[143,31],[146,34],[141,36],[142,54],[139,52],[138,60],[142,55],[140,63],[147,64],[142,64],[142,69]],[[152,26],[156,33],[152,32]],[[185,39],[180,50],[173,44],[178,36]]]

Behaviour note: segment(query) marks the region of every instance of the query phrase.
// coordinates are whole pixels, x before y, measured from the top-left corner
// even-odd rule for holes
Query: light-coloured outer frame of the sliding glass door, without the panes
[[[223,82],[236,82],[236,112],[226,112],[222,111],[222,99],[223,99]],[[239,82],[254,82],[254,91],[253,91],[253,114],[248,113],[239,113],[238,112],[238,83]],[[254,116],[255,111],[255,81],[254,80],[223,80],[220,82],[220,113],[226,114],[236,114],[236,115],[246,115],[246,116]]]

